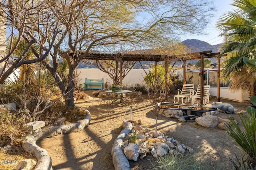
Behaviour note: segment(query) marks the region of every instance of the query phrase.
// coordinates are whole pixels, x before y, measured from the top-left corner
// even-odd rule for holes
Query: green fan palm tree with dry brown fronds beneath
[[[248,68],[243,57],[256,56],[256,3],[255,0],[233,0],[232,5],[237,9],[224,14],[216,25],[227,32],[227,41],[221,47],[221,54],[228,54],[222,75],[231,80],[231,89],[248,89],[254,94],[256,69]]]

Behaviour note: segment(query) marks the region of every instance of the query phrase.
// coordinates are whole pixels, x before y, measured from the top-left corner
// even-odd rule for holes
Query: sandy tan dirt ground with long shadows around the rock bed
[[[111,107],[106,104],[100,105],[101,99],[93,97],[92,91],[94,90],[85,91],[91,96],[88,100],[75,102],[76,106],[90,111],[92,120],[89,127],[80,132],[58,135],[38,143],[50,154],[54,170],[114,170],[111,157],[112,145],[122,130],[122,121],[130,119],[130,107],[119,102],[115,102]],[[173,102],[172,97],[170,102]],[[216,98],[210,98],[210,103],[212,102],[216,102]],[[242,126],[238,115],[246,112],[248,102],[238,103],[230,100],[221,100],[221,102],[230,103],[235,107],[235,113],[231,116],[238,121],[238,125]],[[132,105],[132,120],[140,119],[143,125],[154,129],[155,115],[148,96],[146,94],[137,96],[135,104],[135,107]],[[224,113],[217,116],[226,118]],[[213,167],[231,165],[229,156],[233,157],[234,152],[240,153],[234,146],[236,142],[224,130],[217,127],[204,128],[195,122],[182,123],[175,118],[160,116],[158,131],[200,152]],[[130,166],[132,170],[146,170],[152,168],[151,162],[154,160],[152,156],[146,156],[137,162],[130,161]]]

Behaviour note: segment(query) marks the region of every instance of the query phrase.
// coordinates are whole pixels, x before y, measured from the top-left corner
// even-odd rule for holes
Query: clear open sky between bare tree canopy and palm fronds
[[[233,0],[213,0],[216,8],[216,12],[214,12],[214,17],[212,18],[211,23],[206,27],[205,31],[208,33],[208,35],[195,35],[195,36],[186,36],[182,37],[182,41],[186,39],[199,39],[201,41],[205,41],[209,43],[210,45],[216,45],[219,43],[224,42],[224,36],[219,36],[223,31],[218,31],[216,28],[216,23],[218,18],[222,16],[222,14],[232,11],[235,9],[234,6],[232,6]]]

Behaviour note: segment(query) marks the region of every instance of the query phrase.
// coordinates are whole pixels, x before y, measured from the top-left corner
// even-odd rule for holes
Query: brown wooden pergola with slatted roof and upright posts
[[[226,55],[221,55],[220,53],[212,53],[212,51],[200,51],[196,53],[188,53],[182,56],[177,57],[176,55],[154,55],[154,54],[125,54],[125,53],[112,53],[112,54],[104,54],[104,53],[89,53],[89,55],[83,57],[82,59],[87,60],[111,60],[111,61],[120,61],[120,83],[122,83],[122,61],[154,61],[155,65],[159,61],[165,61],[169,59],[170,61],[182,61],[183,62],[183,83],[186,83],[186,61],[200,59],[200,84],[201,84],[201,92],[204,89],[204,59],[206,58],[218,58],[218,70],[217,70],[217,100],[220,102],[220,58]],[[156,70],[155,70],[156,72]],[[156,75],[156,74],[155,74]],[[200,104],[203,105],[203,93],[200,96]]]

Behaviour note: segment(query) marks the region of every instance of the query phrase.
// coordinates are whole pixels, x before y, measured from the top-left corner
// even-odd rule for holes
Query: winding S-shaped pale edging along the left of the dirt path
[[[52,170],[52,159],[50,155],[45,149],[38,147],[38,145],[36,145],[36,142],[46,137],[77,132],[88,127],[92,117],[87,109],[84,109],[84,111],[87,112],[86,118],[80,122],[68,125],[48,127],[46,129],[37,131],[36,133],[29,135],[25,138],[24,142],[22,143],[22,148],[26,152],[34,154],[38,159],[34,170]]]

